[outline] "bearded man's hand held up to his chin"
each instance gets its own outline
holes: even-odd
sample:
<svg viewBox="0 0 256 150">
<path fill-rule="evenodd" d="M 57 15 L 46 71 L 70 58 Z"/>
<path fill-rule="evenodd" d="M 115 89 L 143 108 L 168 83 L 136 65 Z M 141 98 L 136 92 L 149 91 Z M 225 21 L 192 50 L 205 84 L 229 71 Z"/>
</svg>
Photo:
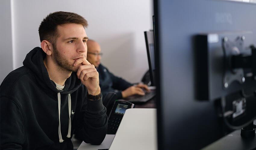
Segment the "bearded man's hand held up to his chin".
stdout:
<svg viewBox="0 0 256 150">
<path fill-rule="evenodd" d="M 86 86 L 89 95 L 99 95 L 101 90 L 99 86 L 99 73 L 96 70 L 95 66 L 86 58 L 81 57 L 74 62 L 74 66 L 82 64 L 78 67 L 76 75 L 78 79 L 81 80 L 83 85 Z"/>
</svg>

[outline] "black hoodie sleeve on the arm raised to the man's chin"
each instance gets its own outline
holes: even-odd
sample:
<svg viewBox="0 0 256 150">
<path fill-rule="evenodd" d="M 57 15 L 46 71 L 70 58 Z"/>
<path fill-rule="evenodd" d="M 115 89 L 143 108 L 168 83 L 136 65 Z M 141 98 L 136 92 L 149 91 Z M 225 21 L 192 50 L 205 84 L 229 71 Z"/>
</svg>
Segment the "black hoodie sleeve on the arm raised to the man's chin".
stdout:
<svg viewBox="0 0 256 150">
<path fill-rule="evenodd" d="M 80 126 L 76 134 L 85 143 L 99 145 L 102 143 L 107 133 L 107 109 L 102 104 L 102 95 L 101 98 L 96 101 L 89 100 L 86 96 L 86 101 L 87 105 L 83 105 L 83 116 L 81 116 L 83 117 L 83 126 Z"/>
</svg>

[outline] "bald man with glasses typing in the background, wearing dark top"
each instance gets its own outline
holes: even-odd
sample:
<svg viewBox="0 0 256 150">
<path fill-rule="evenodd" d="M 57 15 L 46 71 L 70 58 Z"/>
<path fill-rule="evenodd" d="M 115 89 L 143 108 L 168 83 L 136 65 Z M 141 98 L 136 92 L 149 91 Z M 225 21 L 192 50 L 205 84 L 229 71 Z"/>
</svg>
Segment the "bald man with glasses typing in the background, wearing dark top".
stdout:
<svg viewBox="0 0 256 150">
<path fill-rule="evenodd" d="M 145 88 L 146 91 L 150 91 L 145 84 L 133 86 L 133 84 L 109 72 L 108 69 L 100 63 L 102 56 L 101 47 L 96 41 L 88 40 L 87 48 L 87 60 L 96 67 L 99 73 L 99 85 L 103 98 L 110 91 L 116 93 L 117 99 L 127 98 L 132 95 L 145 95 L 142 88 Z"/>
</svg>

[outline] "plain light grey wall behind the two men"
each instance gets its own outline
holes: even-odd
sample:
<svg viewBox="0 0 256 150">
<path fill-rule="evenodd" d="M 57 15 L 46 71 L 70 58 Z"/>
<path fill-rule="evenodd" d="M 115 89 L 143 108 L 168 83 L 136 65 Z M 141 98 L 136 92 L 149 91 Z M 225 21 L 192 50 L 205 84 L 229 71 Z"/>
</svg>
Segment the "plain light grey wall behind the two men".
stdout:
<svg viewBox="0 0 256 150">
<path fill-rule="evenodd" d="M 152 29 L 152 0 L 1 0 L 0 82 L 40 46 L 38 27 L 51 12 L 70 11 L 87 19 L 86 33 L 98 41 L 101 62 L 130 82 L 148 70 L 144 31 Z"/>
</svg>

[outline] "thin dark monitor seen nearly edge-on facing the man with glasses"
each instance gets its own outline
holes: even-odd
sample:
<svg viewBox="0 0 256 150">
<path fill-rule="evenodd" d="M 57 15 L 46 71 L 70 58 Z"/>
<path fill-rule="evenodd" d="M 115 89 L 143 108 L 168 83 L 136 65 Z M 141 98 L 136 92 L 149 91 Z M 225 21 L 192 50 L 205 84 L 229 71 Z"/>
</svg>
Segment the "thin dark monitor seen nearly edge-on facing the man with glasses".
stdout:
<svg viewBox="0 0 256 150">
<path fill-rule="evenodd" d="M 145 41 L 148 56 L 148 66 L 151 86 L 155 86 L 155 45 L 153 31 L 145 31 Z"/>
</svg>

